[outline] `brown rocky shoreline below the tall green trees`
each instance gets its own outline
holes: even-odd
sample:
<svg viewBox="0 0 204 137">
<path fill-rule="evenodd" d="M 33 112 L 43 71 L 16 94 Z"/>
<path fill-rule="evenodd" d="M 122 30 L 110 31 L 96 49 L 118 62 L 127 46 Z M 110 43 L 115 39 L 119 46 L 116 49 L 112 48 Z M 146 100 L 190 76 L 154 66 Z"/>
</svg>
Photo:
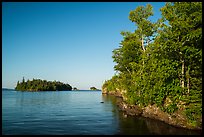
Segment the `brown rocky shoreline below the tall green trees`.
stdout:
<svg viewBox="0 0 204 137">
<path fill-rule="evenodd" d="M 148 117 L 151 119 L 163 121 L 175 127 L 182 127 L 191 130 L 202 130 L 202 125 L 200 127 L 193 127 L 192 125 L 190 125 L 187 121 L 187 117 L 183 114 L 183 111 L 176 111 L 175 113 L 170 115 L 166 112 L 163 112 L 155 104 L 148 105 L 144 108 L 141 108 L 137 105 L 129 105 L 125 103 L 120 92 L 105 92 L 102 90 L 102 94 L 109 94 L 121 98 L 119 101 L 117 101 L 117 106 L 127 115 Z"/>
</svg>

